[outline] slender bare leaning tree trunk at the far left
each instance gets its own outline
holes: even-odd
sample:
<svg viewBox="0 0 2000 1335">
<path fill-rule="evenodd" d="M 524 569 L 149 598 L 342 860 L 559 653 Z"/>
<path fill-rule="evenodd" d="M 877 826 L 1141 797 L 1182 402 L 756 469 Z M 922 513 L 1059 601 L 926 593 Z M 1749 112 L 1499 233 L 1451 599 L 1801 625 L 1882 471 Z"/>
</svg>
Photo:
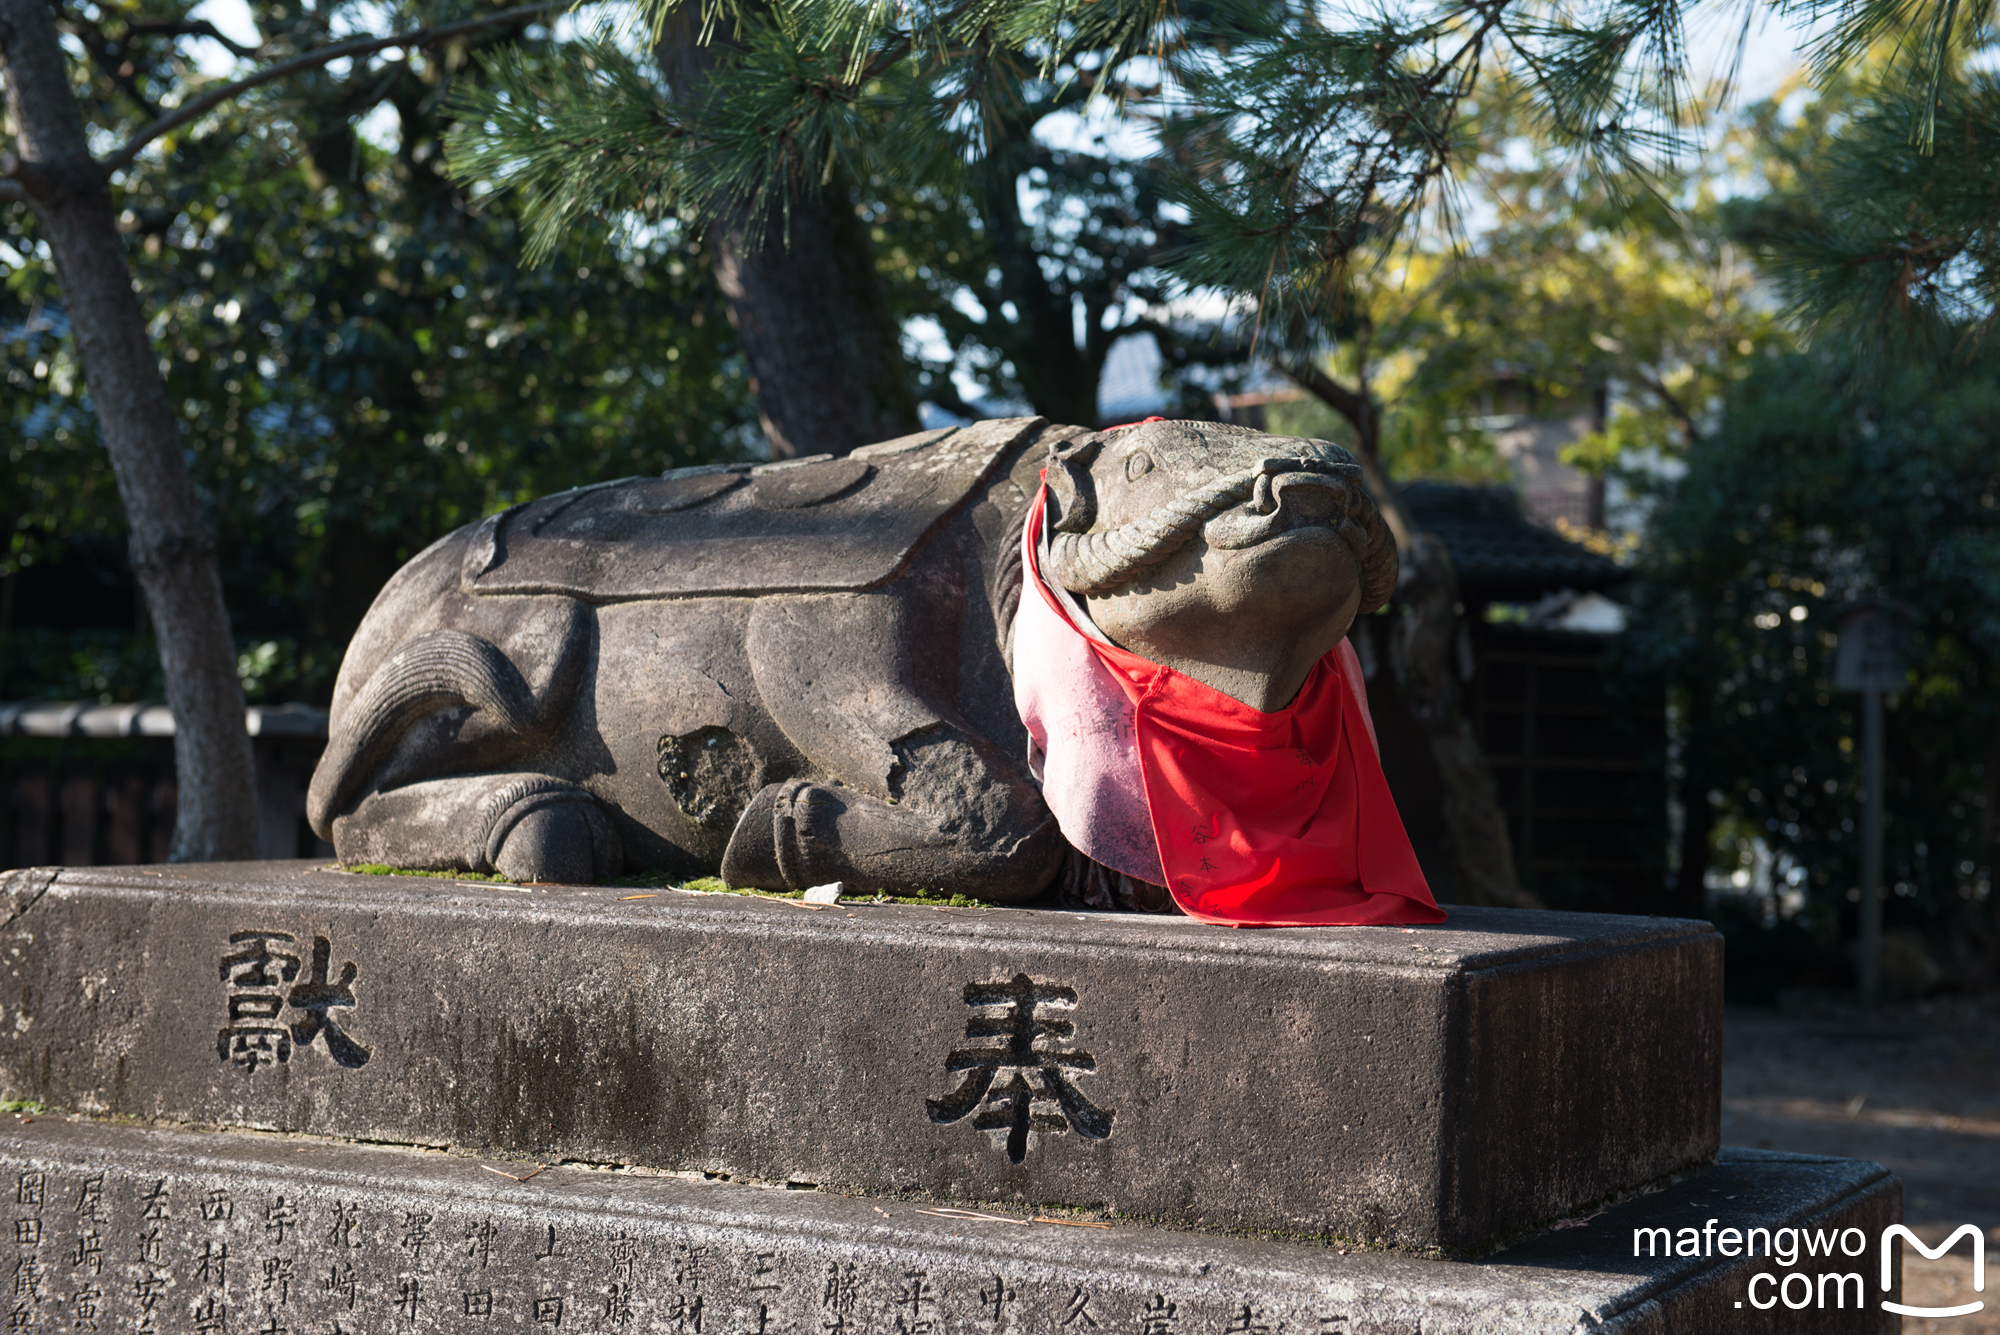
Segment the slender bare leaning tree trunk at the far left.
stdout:
<svg viewBox="0 0 2000 1335">
<path fill-rule="evenodd" d="M 44 0 L 0 0 L 0 66 L 20 134 L 16 180 L 56 256 L 76 354 L 132 526 L 132 570 L 160 642 L 180 783 L 168 857 L 254 857 L 254 759 L 214 538 L 188 482 L 110 184 L 90 158 Z"/>
</svg>

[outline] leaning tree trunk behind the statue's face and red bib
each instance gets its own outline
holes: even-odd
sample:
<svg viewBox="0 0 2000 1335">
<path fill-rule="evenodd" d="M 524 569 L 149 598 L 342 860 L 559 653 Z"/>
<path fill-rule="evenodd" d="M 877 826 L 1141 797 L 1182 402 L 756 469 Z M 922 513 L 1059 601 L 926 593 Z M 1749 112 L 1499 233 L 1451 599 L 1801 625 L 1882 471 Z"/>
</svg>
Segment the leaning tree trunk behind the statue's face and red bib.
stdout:
<svg viewBox="0 0 2000 1335">
<path fill-rule="evenodd" d="M 1466 717 L 1464 691 L 1452 671 L 1452 640 L 1458 636 L 1458 572 L 1444 544 L 1416 528 L 1380 456 L 1380 410 L 1368 390 L 1350 390 L 1312 364 L 1284 368 L 1298 388 L 1338 412 L 1354 428 L 1362 484 L 1374 498 L 1390 534 L 1402 572 L 1396 594 L 1402 614 L 1390 652 L 1390 669 L 1410 701 L 1410 713 L 1430 739 L 1430 757 L 1444 787 L 1444 827 L 1452 833 L 1452 897 L 1460 903 L 1542 907 L 1520 887 L 1514 841 L 1500 809 L 1486 751 Z"/>
</svg>

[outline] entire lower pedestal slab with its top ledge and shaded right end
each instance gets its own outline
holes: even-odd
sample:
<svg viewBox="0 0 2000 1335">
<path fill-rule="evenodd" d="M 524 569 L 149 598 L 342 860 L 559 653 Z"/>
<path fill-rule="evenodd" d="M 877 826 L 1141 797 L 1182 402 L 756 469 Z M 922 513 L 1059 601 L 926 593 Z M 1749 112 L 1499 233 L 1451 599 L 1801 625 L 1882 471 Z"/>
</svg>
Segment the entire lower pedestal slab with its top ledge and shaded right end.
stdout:
<svg viewBox="0 0 2000 1335">
<path fill-rule="evenodd" d="M 482 1165 L 410 1149 L 38 1117 L 0 1129 L 10 1329 L 672 1335 L 1414 1335 L 1896 1329 L 1900 1187 L 1848 1159 L 1724 1155 L 1484 1263 L 906 1203 Z M 502 1177 L 502 1169 L 506 1177 Z M 1636 1229 L 1858 1229 L 1862 1255 L 1634 1257 Z M 1850 1239 L 1852 1241 L 1852 1239 Z M 1782 1249 L 1782 1243 L 1780 1243 Z M 1822 1271 L 1850 1275 L 1818 1307 Z M 1792 1311 L 1772 1281 L 1794 1275 Z M 1806 1279 L 1800 1281 L 1798 1275 Z M 1770 1303 L 1768 1309 L 1758 1309 Z"/>
</svg>

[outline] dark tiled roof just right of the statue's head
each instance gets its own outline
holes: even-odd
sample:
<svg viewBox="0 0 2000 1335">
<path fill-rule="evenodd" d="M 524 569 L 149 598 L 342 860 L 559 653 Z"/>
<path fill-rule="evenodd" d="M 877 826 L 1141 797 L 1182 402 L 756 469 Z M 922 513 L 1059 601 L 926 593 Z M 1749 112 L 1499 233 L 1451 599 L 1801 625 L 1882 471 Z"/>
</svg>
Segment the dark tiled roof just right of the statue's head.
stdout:
<svg viewBox="0 0 2000 1335">
<path fill-rule="evenodd" d="M 1452 554 L 1466 602 L 1532 602 L 1560 590 L 1604 592 L 1630 574 L 1618 562 L 1530 524 L 1506 488 L 1412 482 L 1402 490 L 1402 502 L 1410 518 Z"/>
</svg>

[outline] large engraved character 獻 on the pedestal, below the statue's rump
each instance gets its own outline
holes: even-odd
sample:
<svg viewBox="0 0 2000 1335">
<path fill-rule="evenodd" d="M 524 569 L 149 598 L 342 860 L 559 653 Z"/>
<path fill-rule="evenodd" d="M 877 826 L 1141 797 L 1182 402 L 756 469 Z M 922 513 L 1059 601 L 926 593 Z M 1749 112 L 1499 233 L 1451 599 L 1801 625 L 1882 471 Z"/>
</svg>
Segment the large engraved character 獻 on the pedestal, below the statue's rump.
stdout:
<svg viewBox="0 0 2000 1335">
<path fill-rule="evenodd" d="M 216 1033 L 216 1055 L 256 1071 L 292 1059 L 296 1047 L 326 1045 L 334 1065 L 368 1065 L 368 1049 L 336 1021 L 334 1009 L 352 1009 L 354 961 L 328 981 L 334 947 L 312 937 L 310 957 L 298 953 L 290 931 L 232 931 L 220 979 L 228 985 L 228 1023 Z M 286 1017 L 286 1011 L 292 1015 Z"/>
</svg>

